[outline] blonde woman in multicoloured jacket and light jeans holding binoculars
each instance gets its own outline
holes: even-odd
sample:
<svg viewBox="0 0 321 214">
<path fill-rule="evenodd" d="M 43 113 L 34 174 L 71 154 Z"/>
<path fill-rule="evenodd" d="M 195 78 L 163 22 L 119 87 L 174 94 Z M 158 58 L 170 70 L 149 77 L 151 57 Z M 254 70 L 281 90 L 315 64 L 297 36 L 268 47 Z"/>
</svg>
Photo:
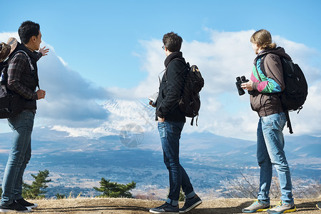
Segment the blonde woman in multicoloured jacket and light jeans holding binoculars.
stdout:
<svg viewBox="0 0 321 214">
<path fill-rule="evenodd" d="M 260 166 L 260 190 L 258 200 L 243 213 L 267 211 L 267 213 L 290 213 L 296 210 L 292 196 L 290 168 L 285 158 L 283 128 L 287 122 L 280 101 L 284 90 L 283 69 L 280 57 L 291 60 L 285 49 L 272 42 L 269 31 L 256 31 L 250 39 L 257 54 L 250 81 L 242 83 L 242 88 L 250 91 L 250 104 L 258 112 L 257 158 Z M 264 57 L 264 61 L 263 61 Z M 263 66 L 261 66 L 263 63 Z M 264 67 L 265 69 L 263 69 Z M 281 201 L 270 208 L 270 185 L 272 166 L 280 181 Z"/>
</svg>

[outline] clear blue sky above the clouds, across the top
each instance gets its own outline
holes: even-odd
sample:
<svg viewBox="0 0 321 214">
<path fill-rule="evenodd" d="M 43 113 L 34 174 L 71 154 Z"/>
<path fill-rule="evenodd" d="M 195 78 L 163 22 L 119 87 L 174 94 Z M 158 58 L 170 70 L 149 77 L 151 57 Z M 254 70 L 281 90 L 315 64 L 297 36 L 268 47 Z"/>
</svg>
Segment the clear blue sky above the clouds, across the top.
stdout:
<svg viewBox="0 0 321 214">
<path fill-rule="evenodd" d="M 0 31 L 30 19 L 68 66 L 101 86 L 133 87 L 144 76 L 139 41 L 175 31 L 186 41 L 208 41 L 217 31 L 268 29 L 271 34 L 321 49 L 320 1 L 16 1 L 2 11 Z M 268 2 L 268 3 L 267 3 Z M 2 8 L 10 8 L 5 1 Z M 10 17 L 10 19 L 9 19 Z M 231 50 L 232 51 L 232 50 Z M 123 71 L 123 75 L 113 75 Z M 117 73 L 119 74 L 119 73 Z"/>
</svg>

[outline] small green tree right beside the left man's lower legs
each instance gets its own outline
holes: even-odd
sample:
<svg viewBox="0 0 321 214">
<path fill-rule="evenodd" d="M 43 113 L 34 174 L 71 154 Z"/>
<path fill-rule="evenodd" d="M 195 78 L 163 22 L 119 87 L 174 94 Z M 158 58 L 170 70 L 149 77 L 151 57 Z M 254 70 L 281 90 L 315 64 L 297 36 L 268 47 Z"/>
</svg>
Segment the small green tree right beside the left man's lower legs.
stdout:
<svg viewBox="0 0 321 214">
<path fill-rule="evenodd" d="M 46 183 L 49 183 L 51 179 L 47 179 L 49 176 L 49 170 L 40 171 L 37 175 L 31 174 L 34 178 L 34 182 L 31 185 L 22 183 L 22 197 L 29 199 L 41 199 L 44 198 L 45 195 L 41 195 L 46 193 L 44 189 L 48 188 Z"/>
</svg>

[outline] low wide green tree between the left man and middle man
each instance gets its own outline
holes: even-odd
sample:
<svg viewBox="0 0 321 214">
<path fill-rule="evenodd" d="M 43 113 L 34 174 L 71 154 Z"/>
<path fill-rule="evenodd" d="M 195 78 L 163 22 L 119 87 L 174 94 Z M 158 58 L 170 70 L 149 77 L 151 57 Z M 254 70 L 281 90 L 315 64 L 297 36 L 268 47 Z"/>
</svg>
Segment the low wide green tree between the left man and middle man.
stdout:
<svg viewBox="0 0 321 214">
<path fill-rule="evenodd" d="M 129 191 L 136 188 L 136 183 L 133 181 L 128 184 L 121 184 L 111 182 L 111 180 L 106 180 L 105 178 L 101 178 L 101 181 L 99 183 L 101 184 L 100 188 L 93 187 L 93 189 L 103 193 L 98 197 L 133 198 L 133 195 Z"/>
</svg>

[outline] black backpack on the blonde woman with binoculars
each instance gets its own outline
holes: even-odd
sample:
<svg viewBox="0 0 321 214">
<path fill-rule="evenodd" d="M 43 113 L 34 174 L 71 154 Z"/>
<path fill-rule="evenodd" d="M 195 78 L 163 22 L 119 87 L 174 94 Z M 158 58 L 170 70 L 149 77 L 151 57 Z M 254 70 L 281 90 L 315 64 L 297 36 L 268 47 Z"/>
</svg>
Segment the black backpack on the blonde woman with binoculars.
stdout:
<svg viewBox="0 0 321 214">
<path fill-rule="evenodd" d="M 261 58 L 260 66 L 266 76 L 263 63 L 265 56 Z M 300 66 L 281 56 L 280 59 L 285 83 L 285 89 L 280 93 L 280 100 L 287 117 L 287 127 L 290 129 L 290 133 L 293 133 L 289 111 L 297 111 L 299 113 L 303 108 L 303 104 L 307 99 L 307 81 Z"/>
</svg>

